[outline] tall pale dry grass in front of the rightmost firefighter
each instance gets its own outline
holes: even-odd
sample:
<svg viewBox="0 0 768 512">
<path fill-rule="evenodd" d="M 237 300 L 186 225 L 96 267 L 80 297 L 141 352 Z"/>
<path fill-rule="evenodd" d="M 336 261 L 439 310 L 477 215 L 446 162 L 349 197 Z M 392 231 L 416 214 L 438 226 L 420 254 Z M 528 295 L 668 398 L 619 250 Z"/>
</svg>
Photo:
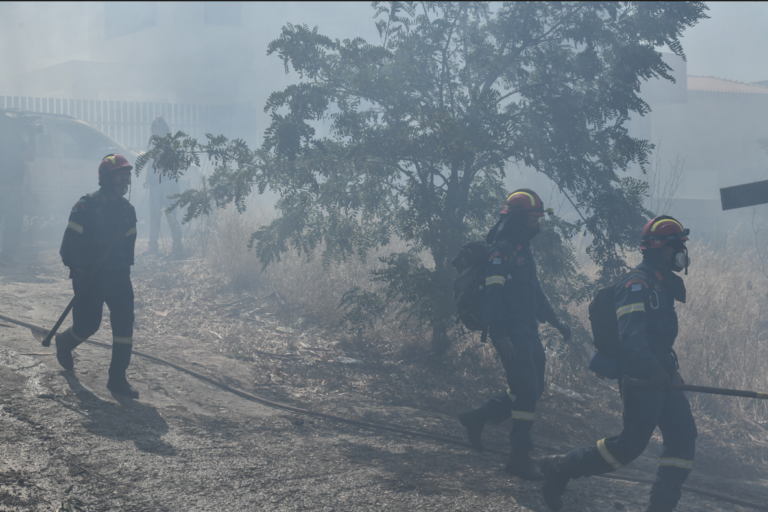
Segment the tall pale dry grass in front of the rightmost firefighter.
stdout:
<svg viewBox="0 0 768 512">
<path fill-rule="evenodd" d="M 690 383 L 748 390 L 768 389 L 768 297 L 766 279 L 743 248 L 694 245 L 686 278 L 688 302 L 677 307 L 680 334 L 675 348 Z M 768 420 L 762 400 L 691 393 L 694 409 L 714 419 L 741 414 Z"/>
</svg>

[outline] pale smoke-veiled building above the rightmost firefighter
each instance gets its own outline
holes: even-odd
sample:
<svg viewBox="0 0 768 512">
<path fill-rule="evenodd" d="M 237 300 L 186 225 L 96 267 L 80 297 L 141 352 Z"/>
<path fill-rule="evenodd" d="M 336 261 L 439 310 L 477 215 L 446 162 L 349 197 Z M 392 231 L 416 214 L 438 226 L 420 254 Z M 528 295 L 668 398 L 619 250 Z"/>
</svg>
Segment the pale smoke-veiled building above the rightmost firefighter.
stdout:
<svg viewBox="0 0 768 512">
<path fill-rule="evenodd" d="M 661 203 L 671 204 L 668 213 L 709 236 L 751 216 L 750 208 L 723 212 L 720 188 L 768 179 L 768 152 L 761 146 L 768 138 L 768 87 L 688 76 L 686 93 L 681 101 L 651 103 L 653 111 L 641 129 L 658 147 L 652 165 L 658 188 L 669 189 L 679 180 Z M 682 171 L 679 178 L 670 175 L 675 163 Z"/>
</svg>

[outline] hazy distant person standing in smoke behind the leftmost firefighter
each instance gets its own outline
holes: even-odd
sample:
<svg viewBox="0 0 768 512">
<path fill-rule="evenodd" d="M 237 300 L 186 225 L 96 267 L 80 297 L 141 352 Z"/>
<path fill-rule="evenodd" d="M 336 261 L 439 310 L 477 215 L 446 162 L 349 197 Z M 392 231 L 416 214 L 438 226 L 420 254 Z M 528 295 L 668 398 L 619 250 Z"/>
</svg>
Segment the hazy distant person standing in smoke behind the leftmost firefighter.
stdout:
<svg viewBox="0 0 768 512">
<path fill-rule="evenodd" d="M 158 137 L 165 137 L 171 133 L 168 123 L 165 122 L 165 119 L 163 119 L 162 116 L 157 116 L 154 121 L 152 121 L 151 130 L 152 135 L 157 135 Z M 146 166 L 146 169 L 147 173 L 144 176 L 144 188 L 149 188 L 149 248 L 144 254 L 146 256 L 157 256 L 160 254 L 160 245 L 158 244 L 158 238 L 160 237 L 160 217 L 165 209 L 174 203 L 174 201 L 168 199 L 168 197 L 178 194 L 180 189 L 179 183 L 176 180 L 162 177 L 159 172 L 154 172 L 151 162 Z M 181 226 L 179 225 L 179 221 L 176 220 L 176 216 L 173 212 L 166 213 L 165 219 L 168 221 L 168 226 L 171 228 L 171 239 L 173 240 L 171 257 L 182 258 L 184 250 L 181 244 Z"/>
</svg>

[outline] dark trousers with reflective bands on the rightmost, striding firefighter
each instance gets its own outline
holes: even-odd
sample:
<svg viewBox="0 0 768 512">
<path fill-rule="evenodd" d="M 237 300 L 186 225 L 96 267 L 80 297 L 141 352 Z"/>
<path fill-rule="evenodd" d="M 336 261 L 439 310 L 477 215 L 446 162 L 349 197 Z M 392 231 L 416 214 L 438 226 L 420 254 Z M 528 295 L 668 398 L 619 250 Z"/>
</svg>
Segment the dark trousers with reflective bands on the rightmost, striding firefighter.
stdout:
<svg viewBox="0 0 768 512">
<path fill-rule="evenodd" d="M 696 423 L 688 399 L 680 390 L 660 393 L 639 386 L 624 386 L 624 430 L 618 436 L 582 446 L 567 455 L 571 478 L 615 471 L 643 453 L 656 427 L 664 439 L 651 502 L 675 506 L 688 478 L 696 451 Z"/>
</svg>

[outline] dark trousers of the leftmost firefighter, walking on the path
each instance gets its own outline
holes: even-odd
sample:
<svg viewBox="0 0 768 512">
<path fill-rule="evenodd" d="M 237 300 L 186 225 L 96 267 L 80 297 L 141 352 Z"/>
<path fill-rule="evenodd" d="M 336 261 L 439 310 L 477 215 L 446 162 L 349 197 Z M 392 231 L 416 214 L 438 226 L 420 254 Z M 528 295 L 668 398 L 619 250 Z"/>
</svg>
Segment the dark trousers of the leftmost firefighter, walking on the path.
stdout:
<svg viewBox="0 0 768 512">
<path fill-rule="evenodd" d="M 110 376 L 124 376 L 131 362 L 133 349 L 133 285 L 130 269 L 98 272 L 83 295 L 72 307 L 72 327 L 68 333 L 72 348 L 96 334 L 106 303 L 112 324 L 112 364 Z M 80 291 L 73 282 L 75 294 Z"/>
</svg>

